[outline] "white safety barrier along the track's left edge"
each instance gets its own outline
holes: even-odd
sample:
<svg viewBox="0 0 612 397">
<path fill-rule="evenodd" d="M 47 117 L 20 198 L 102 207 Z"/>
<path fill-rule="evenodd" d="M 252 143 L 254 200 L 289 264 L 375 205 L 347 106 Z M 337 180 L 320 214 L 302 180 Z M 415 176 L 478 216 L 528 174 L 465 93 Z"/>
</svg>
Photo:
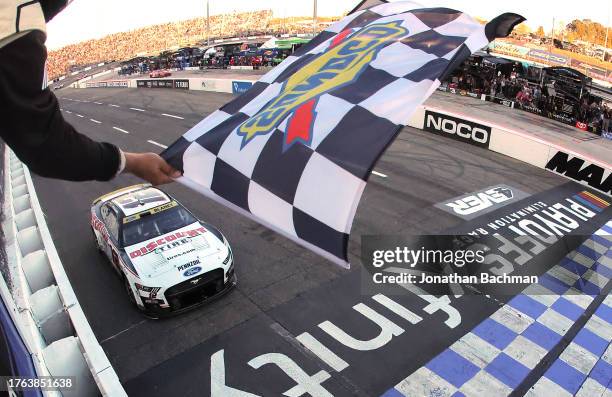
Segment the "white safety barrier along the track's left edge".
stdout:
<svg viewBox="0 0 612 397">
<path fill-rule="evenodd" d="M 48 396 L 127 396 L 70 285 L 47 228 L 28 168 L 7 147 L 5 249 L 12 289 L 0 294 L 39 376 L 76 377 L 71 390 Z"/>
</svg>

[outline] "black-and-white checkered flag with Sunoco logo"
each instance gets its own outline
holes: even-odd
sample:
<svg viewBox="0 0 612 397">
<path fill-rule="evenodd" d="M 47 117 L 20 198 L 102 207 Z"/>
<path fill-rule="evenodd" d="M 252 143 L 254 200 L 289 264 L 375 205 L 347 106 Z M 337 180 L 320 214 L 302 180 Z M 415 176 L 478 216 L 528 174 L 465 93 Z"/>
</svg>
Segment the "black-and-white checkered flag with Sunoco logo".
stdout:
<svg viewBox="0 0 612 397">
<path fill-rule="evenodd" d="M 378 158 L 443 77 L 522 20 L 481 25 L 406 1 L 357 11 L 162 156 L 185 185 L 348 267 L 353 217 Z"/>
</svg>

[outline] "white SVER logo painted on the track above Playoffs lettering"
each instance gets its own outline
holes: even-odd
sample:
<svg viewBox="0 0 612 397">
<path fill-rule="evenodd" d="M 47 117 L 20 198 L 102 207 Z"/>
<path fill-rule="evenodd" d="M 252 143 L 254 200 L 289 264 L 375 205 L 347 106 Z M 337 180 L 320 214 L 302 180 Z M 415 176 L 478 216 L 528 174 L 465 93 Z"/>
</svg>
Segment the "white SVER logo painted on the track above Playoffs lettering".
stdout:
<svg viewBox="0 0 612 397">
<path fill-rule="evenodd" d="M 497 185 L 436 204 L 436 207 L 464 219 L 473 219 L 528 196 L 510 186 Z"/>
</svg>

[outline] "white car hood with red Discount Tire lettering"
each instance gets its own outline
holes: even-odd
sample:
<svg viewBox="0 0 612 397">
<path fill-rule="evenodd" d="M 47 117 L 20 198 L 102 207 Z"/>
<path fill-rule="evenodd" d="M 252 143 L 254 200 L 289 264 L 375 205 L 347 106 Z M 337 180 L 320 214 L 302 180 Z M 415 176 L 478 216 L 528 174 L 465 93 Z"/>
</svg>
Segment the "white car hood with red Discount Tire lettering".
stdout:
<svg viewBox="0 0 612 397">
<path fill-rule="evenodd" d="M 143 281 L 169 277 L 169 282 L 176 282 L 221 266 L 229 249 L 202 224 L 195 222 L 126 247 L 125 252 Z"/>
</svg>

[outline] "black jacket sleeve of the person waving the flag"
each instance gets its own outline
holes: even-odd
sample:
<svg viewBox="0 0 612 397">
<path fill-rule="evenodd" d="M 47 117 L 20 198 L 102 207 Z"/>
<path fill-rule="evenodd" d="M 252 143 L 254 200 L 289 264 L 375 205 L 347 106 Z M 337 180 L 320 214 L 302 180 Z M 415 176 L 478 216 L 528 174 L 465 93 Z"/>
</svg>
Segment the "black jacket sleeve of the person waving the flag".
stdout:
<svg viewBox="0 0 612 397">
<path fill-rule="evenodd" d="M 119 149 L 79 134 L 43 89 L 44 38 L 33 31 L 0 48 L 0 136 L 38 175 L 109 180 L 119 168 Z"/>
</svg>

